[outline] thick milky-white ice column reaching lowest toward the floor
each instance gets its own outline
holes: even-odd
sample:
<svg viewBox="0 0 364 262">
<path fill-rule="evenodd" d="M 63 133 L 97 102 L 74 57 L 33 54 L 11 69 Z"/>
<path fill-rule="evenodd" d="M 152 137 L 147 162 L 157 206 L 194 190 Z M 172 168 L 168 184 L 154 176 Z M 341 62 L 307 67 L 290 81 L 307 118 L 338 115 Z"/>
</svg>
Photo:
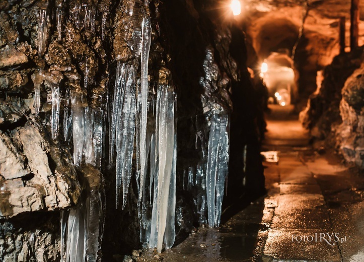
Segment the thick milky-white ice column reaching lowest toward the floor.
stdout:
<svg viewBox="0 0 364 262">
<path fill-rule="evenodd" d="M 162 73 L 163 74 L 163 73 Z M 161 75 L 161 72 L 160 72 Z M 170 85 L 159 85 L 156 113 L 156 145 L 158 174 L 154 178 L 154 203 L 150 247 L 162 251 L 172 247 L 175 240 L 176 203 L 176 97 Z"/>
</svg>

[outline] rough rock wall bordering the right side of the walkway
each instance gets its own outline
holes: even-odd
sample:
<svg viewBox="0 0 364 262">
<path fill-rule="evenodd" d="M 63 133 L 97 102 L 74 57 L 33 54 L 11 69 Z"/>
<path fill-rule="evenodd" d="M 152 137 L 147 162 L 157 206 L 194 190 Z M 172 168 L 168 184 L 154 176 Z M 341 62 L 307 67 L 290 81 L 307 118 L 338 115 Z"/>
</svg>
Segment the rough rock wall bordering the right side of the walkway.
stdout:
<svg viewBox="0 0 364 262">
<path fill-rule="evenodd" d="M 364 170 L 363 47 L 337 55 L 323 70 L 323 81 L 309 98 L 300 120 L 314 141 L 335 148 Z"/>
</svg>

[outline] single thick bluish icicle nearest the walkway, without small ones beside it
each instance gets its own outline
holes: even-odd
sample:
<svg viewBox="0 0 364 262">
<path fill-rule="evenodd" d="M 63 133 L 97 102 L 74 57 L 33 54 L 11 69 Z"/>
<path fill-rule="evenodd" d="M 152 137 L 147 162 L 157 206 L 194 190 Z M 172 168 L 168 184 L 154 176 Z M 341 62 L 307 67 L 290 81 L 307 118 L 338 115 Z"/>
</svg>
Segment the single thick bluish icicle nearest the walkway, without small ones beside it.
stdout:
<svg viewBox="0 0 364 262">
<path fill-rule="evenodd" d="M 229 163 L 229 117 L 225 113 L 211 113 L 208 140 L 206 192 L 208 224 L 220 225 L 225 178 Z"/>
</svg>

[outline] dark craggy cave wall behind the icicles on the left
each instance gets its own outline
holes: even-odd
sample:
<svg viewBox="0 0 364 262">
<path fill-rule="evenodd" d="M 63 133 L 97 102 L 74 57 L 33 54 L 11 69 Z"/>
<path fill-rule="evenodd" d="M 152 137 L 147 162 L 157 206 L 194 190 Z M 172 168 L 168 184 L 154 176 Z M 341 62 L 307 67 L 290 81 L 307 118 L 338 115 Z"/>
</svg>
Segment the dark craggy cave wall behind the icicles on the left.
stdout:
<svg viewBox="0 0 364 262">
<path fill-rule="evenodd" d="M 0 3 L 0 258 L 4 261 L 60 259 L 60 211 L 78 204 L 81 191 L 87 188 L 85 177 L 91 173 L 104 179 L 106 191 L 103 259 L 111 261 L 115 255 L 139 247 L 135 167 L 127 205 L 116 210 L 115 167 L 107 153 L 107 104 L 113 96 L 116 63 L 136 58 L 127 42 L 132 30 L 125 26 L 125 8 L 130 3 L 92 3 L 96 7 L 93 28 L 80 25 L 78 16 L 85 14 L 76 12 L 78 1 L 66 1 L 63 6 L 50 2 L 48 8 L 54 13 L 60 8 L 63 16 L 60 28 L 57 16 L 49 16 L 44 55 L 38 53 L 39 15 L 44 2 Z M 208 146 L 206 139 L 196 145 L 196 136 L 207 132 L 206 113 L 211 105 L 219 105 L 231 119 L 224 206 L 244 194 L 249 201 L 264 192 L 258 139 L 261 130 L 257 125 L 257 119 L 262 119 L 257 103 L 260 96 L 246 68 L 245 36 L 232 18 L 220 19 L 216 5 L 215 1 L 192 0 L 150 3 L 150 81 L 160 81 L 160 69 L 166 68 L 170 71 L 167 80 L 177 93 L 176 230 L 181 238 L 201 222 L 193 194 L 184 189 L 184 176 L 186 168 L 197 164 Z M 102 175 L 90 165 L 73 164 L 74 145 L 69 136 L 59 132 L 56 140 L 51 139 L 49 86 L 41 88 L 41 108 L 35 116 L 36 79 L 32 76 L 40 69 L 49 76 L 54 71 L 62 75 L 58 81 L 62 101 L 59 130 L 66 124 L 69 87 L 81 90 L 88 106 L 101 117 L 106 126 L 102 158 L 97 164 Z M 242 161 L 245 147 L 246 163 Z"/>
</svg>

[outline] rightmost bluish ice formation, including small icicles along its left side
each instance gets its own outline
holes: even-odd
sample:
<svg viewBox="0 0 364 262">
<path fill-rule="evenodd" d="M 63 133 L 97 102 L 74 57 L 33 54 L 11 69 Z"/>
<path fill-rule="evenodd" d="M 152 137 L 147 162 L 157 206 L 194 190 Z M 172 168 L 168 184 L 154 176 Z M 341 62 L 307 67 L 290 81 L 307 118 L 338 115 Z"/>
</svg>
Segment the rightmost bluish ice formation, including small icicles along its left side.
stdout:
<svg viewBox="0 0 364 262">
<path fill-rule="evenodd" d="M 194 195 L 199 223 L 218 227 L 229 166 L 230 116 L 219 106 L 219 109 L 215 105 L 212 108 L 206 113 L 206 131 L 197 130 L 196 149 L 199 139 L 201 160 L 196 167 L 185 169 L 185 189 Z M 208 141 L 205 141 L 205 137 Z"/>
</svg>

